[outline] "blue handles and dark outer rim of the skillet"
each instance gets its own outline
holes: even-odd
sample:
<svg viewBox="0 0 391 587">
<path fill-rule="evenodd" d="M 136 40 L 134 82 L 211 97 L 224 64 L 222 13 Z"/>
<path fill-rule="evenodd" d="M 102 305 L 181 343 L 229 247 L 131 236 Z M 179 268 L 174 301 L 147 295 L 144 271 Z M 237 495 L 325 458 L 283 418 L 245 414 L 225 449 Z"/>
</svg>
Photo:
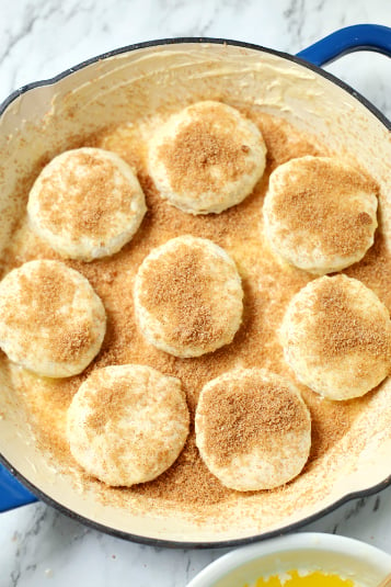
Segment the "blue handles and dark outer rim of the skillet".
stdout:
<svg viewBox="0 0 391 587">
<path fill-rule="evenodd" d="M 284 59 L 296 61 L 300 64 L 301 66 L 304 66 L 308 69 L 311 69 L 315 71 L 317 74 L 320 74 L 327 80 L 332 81 L 336 86 L 347 91 L 349 94 L 356 98 L 359 102 L 361 102 L 377 118 L 379 118 L 379 121 L 389 131 L 391 131 L 391 122 L 381 112 L 379 112 L 368 100 L 366 100 L 364 97 L 358 94 L 355 90 L 353 90 L 349 86 L 347 86 L 340 79 L 320 69 L 321 66 L 327 63 L 331 63 L 347 53 L 352 53 L 355 50 L 375 50 L 377 53 L 382 53 L 391 57 L 391 29 L 381 26 L 381 25 L 375 25 L 375 24 L 358 24 L 358 25 L 347 26 L 345 29 L 336 31 L 332 33 L 331 35 L 322 38 L 321 41 L 314 43 L 310 47 L 301 50 L 296 56 L 281 53 L 281 52 L 277 52 L 274 49 L 265 48 L 258 45 L 252 45 L 249 43 L 227 41 L 227 39 L 221 39 L 221 38 L 205 38 L 205 37 L 204 38 L 185 37 L 185 38 L 174 38 L 174 39 L 166 38 L 166 39 L 161 39 L 161 41 L 152 41 L 152 42 L 147 42 L 147 43 L 139 43 L 136 45 L 129 45 L 127 47 L 122 47 L 119 49 L 115 49 L 115 50 L 105 53 L 103 55 L 100 55 L 97 57 L 88 59 L 87 61 L 83 61 L 76 67 L 67 69 L 62 74 L 59 74 L 58 76 L 49 80 L 43 80 L 43 81 L 34 82 L 34 83 L 28 83 L 20 88 L 19 90 L 11 93 L 11 95 L 7 98 L 4 102 L 0 105 L 0 116 L 3 114 L 5 109 L 11 104 L 11 102 L 13 102 L 21 94 L 26 93 L 33 88 L 37 88 L 39 86 L 54 84 L 58 80 L 69 76 L 73 71 L 82 69 L 97 60 L 106 59 L 106 58 L 113 57 L 122 53 L 133 52 L 135 49 L 143 48 L 143 47 L 153 47 L 153 46 L 170 45 L 170 44 L 177 44 L 177 43 L 193 43 L 193 44 L 194 43 L 212 43 L 212 44 L 235 45 L 239 47 L 246 47 L 246 48 L 266 52 L 266 53 L 279 56 Z M 317 512 L 313 516 L 307 517 L 300 520 L 299 522 L 286 526 L 283 529 L 283 531 L 286 533 L 295 531 L 299 529 L 301 526 L 304 526 L 311 521 L 314 521 L 315 519 L 319 519 L 325 513 L 329 513 L 330 511 L 336 509 L 342 504 L 350 499 L 365 497 L 365 496 L 375 494 L 386 488 L 389 485 L 391 485 L 391 474 L 380 484 L 373 487 L 370 487 L 368 489 L 365 489 L 365 490 L 350 493 L 344 496 L 342 499 L 334 503 L 332 506 L 323 509 L 322 511 Z M 4 459 L 0 454 L 0 512 L 7 511 L 9 509 L 16 508 L 26 504 L 31 504 L 33 501 L 36 501 L 37 499 L 42 499 L 46 504 L 57 508 L 62 513 L 66 513 L 67 516 L 73 519 L 77 519 L 78 521 L 87 526 L 90 526 L 96 530 L 103 531 L 107 534 L 116 535 L 122 539 L 131 540 L 135 542 L 141 542 L 141 543 L 151 544 L 151 545 L 171 546 L 171 548 L 198 548 L 198 549 L 199 548 L 233 546 L 238 544 L 255 542 L 261 539 L 265 540 L 265 539 L 268 539 L 276 534 L 281 533 L 281 530 L 275 530 L 275 531 L 271 531 L 267 533 L 263 533 L 262 537 L 255 535 L 255 537 L 250 537 L 250 538 L 239 539 L 239 540 L 230 540 L 230 541 L 226 540 L 221 542 L 199 544 L 199 543 L 192 543 L 192 542 L 174 542 L 174 541 L 166 541 L 166 540 L 159 540 L 159 539 L 149 539 L 149 538 L 138 537 L 128 532 L 122 532 L 113 528 L 103 526 L 101 523 L 96 523 L 88 518 L 84 518 L 73 512 L 72 510 L 64 507 L 62 505 L 58 504 L 48 495 L 44 494 L 39 489 L 39 487 L 33 486 L 26 478 L 24 478 L 12 466 L 12 463 L 8 462 L 7 459 Z"/>
</svg>

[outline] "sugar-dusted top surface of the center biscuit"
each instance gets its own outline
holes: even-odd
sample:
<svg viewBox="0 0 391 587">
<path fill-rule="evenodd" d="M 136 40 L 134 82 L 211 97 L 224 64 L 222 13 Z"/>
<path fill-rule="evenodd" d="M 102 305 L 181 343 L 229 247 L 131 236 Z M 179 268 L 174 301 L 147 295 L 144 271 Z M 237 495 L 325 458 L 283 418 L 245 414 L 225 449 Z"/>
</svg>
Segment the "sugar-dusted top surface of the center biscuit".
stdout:
<svg viewBox="0 0 391 587">
<path fill-rule="evenodd" d="M 169 343 L 208 350 L 231 330 L 242 307 L 240 301 L 232 307 L 229 303 L 241 291 L 240 278 L 234 262 L 219 250 L 216 246 L 210 250 L 206 239 L 185 235 L 170 241 L 164 253 L 148 259 L 140 302 L 164 325 Z"/>
</svg>

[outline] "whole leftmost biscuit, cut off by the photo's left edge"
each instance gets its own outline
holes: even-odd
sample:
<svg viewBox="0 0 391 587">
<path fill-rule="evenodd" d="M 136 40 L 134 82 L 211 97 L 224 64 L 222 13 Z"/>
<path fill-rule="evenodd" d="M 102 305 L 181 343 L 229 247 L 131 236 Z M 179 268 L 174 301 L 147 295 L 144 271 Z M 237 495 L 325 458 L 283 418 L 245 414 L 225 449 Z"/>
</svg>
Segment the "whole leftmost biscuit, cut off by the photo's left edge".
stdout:
<svg viewBox="0 0 391 587">
<path fill-rule="evenodd" d="M 60 261 L 30 261 L 0 283 L 0 347 L 38 375 L 81 373 L 105 331 L 100 297 L 81 273 Z"/>
</svg>

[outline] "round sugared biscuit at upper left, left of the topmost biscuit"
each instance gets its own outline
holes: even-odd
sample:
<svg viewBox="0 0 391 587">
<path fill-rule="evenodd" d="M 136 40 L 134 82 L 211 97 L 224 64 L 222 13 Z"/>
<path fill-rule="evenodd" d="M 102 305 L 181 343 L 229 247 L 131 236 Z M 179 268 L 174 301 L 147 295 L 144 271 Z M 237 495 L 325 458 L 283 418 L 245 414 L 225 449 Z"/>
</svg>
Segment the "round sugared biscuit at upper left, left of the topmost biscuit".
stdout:
<svg viewBox="0 0 391 587">
<path fill-rule="evenodd" d="M 33 230 L 61 257 L 92 261 L 117 252 L 147 211 L 130 167 L 115 153 L 82 147 L 55 157 L 28 196 Z"/>
</svg>

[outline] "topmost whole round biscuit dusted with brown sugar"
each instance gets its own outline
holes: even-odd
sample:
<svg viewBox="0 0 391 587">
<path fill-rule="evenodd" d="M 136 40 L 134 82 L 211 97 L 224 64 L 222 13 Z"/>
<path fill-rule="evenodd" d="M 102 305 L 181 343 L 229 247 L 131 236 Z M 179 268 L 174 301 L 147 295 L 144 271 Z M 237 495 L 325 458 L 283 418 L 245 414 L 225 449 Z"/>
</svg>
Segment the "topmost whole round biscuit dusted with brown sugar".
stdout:
<svg viewBox="0 0 391 587">
<path fill-rule="evenodd" d="M 149 172 L 162 197 L 191 214 L 242 202 L 262 177 L 266 147 L 238 110 L 207 100 L 173 114 L 153 134 Z"/>
</svg>

